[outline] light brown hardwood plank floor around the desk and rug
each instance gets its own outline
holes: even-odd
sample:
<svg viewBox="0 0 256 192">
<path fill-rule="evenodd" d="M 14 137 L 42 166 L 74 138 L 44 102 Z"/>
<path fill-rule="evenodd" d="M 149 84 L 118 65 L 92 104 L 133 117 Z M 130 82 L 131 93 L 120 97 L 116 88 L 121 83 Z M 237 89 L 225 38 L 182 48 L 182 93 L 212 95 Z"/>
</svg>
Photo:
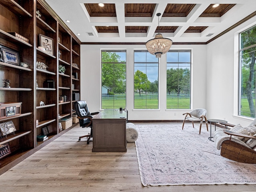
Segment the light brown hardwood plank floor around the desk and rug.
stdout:
<svg viewBox="0 0 256 192">
<path fill-rule="evenodd" d="M 142 186 L 134 143 L 92 152 L 76 126 L 0 176 L 0 192 L 255 192 L 256 185 Z"/>
</svg>

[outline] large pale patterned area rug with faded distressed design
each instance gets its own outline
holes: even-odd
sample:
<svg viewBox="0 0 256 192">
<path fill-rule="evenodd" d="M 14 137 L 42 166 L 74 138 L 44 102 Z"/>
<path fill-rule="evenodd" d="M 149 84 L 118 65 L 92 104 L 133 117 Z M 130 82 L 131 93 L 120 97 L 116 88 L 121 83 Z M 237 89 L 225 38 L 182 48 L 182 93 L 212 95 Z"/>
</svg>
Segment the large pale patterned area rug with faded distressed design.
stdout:
<svg viewBox="0 0 256 192">
<path fill-rule="evenodd" d="M 256 184 L 256 164 L 220 156 L 210 132 L 181 124 L 136 124 L 136 152 L 144 186 Z M 210 128 L 209 128 L 210 131 Z"/>
</svg>

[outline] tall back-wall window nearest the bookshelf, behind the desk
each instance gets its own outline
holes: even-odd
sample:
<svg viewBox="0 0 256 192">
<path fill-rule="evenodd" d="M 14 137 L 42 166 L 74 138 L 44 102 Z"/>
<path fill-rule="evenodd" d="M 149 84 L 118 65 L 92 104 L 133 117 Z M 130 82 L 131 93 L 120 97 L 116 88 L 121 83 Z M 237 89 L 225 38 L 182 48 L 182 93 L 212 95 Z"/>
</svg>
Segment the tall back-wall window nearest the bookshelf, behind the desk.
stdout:
<svg viewBox="0 0 256 192">
<path fill-rule="evenodd" d="M 126 51 L 101 52 L 102 109 L 126 107 Z"/>
</svg>

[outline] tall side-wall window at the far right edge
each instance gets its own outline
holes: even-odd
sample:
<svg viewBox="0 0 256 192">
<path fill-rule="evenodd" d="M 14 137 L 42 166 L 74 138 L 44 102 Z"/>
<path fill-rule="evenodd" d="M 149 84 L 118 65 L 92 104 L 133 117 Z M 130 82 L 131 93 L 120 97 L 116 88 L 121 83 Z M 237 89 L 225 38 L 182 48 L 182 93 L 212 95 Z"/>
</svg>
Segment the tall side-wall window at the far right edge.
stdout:
<svg viewBox="0 0 256 192">
<path fill-rule="evenodd" d="M 255 118 L 256 26 L 240 33 L 239 115 Z"/>
</svg>

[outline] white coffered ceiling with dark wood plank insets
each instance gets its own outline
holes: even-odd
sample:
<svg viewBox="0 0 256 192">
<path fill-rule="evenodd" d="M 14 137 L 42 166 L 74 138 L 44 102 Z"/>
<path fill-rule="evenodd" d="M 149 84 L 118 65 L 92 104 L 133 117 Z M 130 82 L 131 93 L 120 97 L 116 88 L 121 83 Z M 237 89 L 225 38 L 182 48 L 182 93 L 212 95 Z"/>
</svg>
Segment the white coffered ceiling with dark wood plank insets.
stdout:
<svg viewBox="0 0 256 192">
<path fill-rule="evenodd" d="M 244 18 L 256 21 L 256 0 L 45 1 L 84 43 L 143 43 L 158 32 L 174 44 L 207 43 Z"/>
</svg>

